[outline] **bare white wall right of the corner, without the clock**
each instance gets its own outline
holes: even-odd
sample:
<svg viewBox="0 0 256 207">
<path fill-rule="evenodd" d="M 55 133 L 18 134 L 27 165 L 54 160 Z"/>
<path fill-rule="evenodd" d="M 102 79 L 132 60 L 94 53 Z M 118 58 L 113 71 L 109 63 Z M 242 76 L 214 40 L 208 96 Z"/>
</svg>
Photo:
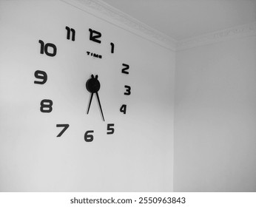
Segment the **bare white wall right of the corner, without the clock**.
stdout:
<svg viewBox="0 0 256 207">
<path fill-rule="evenodd" d="M 178 52 L 175 191 L 256 191 L 256 37 Z"/>
</svg>

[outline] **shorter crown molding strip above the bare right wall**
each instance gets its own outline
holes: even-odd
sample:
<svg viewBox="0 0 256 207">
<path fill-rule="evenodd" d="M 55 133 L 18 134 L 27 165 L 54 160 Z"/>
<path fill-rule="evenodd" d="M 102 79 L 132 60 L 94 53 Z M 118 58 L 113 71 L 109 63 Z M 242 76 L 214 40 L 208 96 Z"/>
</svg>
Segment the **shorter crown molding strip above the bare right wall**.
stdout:
<svg viewBox="0 0 256 207">
<path fill-rule="evenodd" d="M 193 47 L 199 47 L 206 44 L 213 44 L 219 41 L 226 41 L 231 38 L 256 35 L 256 21 L 250 24 L 243 24 L 238 27 L 231 27 L 226 30 L 220 30 L 214 33 L 199 35 L 195 38 L 188 38 L 178 41 L 177 50 L 187 50 Z"/>
</svg>

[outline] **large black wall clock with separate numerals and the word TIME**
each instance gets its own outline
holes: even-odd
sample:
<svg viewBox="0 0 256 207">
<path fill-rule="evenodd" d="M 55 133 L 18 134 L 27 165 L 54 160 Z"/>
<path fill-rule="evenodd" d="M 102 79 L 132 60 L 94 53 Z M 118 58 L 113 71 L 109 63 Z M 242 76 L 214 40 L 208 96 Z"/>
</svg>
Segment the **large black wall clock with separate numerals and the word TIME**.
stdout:
<svg viewBox="0 0 256 207">
<path fill-rule="evenodd" d="M 92 28 L 84 28 L 85 30 L 82 31 L 84 32 L 84 39 L 77 39 L 75 38 L 75 35 L 77 34 L 75 32 L 75 29 L 73 29 L 72 27 L 65 27 L 63 28 L 63 35 L 66 36 L 67 41 L 84 41 L 86 43 L 86 41 L 92 41 L 93 44 L 101 44 L 101 37 L 102 34 L 99 31 L 93 30 Z M 69 45 L 69 47 L 67 47 L 67 44 L 65 46 L 65 43 L 62 43 L 62 50 L 70 50 L 69 47 L 75 47 L 75 45 L 72 46 L 72 44 Z M 86 43 L 87 44 L 87 43 Z M 101 47 L 107 47 L 106 50 L 104 50 L 104 52 L 106 53 L 109 52 L 110 54 L 115 54 L 116 50 L 115 50 L 115 44 L 113 42 L 109 42 L 109 44 L 104 44 Z M 98 52 L 91 52 L 92 50 L 90 50 L 90 47 L 84 48 L 84 51 L 82 54 L 75 54 L 75 55 L 84 55 L 84 60 L 86 61 L 86 63 L 83 66 L 84 72 L 87 72 L 87 75 L 84 76 L 84 92 L 81 93 L 81 96 L 87 96 L 88 97 L 88 104 L 84 103 L 84 109 L 85 106 L 87 106 L 87 110 L 85 111 L 81 111 L 81 115 L 84 115 L 84 117 L 86 117 L 86 115 L 89 114 L 90 112 L 90 106 L 91 104 L 98 104 L 98 109 L 99 109 L 99 114 L 101 115 L 101 120 L 105 122 L 105 118 L 104 118 L 104 114 L 107 115 L 108 111 L 107 108 L 104 108 L 104 102 L 101 101 L 100 99 L 100 93 L 101 93 L 101 88 L 104 87 L 104 84 L 101 84 L 101 80 L 106 78 L 104 77 L 104 73 L 101 75 L 101 72 L 98 71 L 97 72 L 93 72 L 90 69 L 90 65 L 88 64 L 88 62 L 95 61 L 95 67 L 100 67 L 100 64 L 98 64 L 97 66 L 97 61 L 101 61 L 104 58 L 108 58 L 108 56 L 106 54 L 104 54 L 104 52 L 101 52 L 101 48 L 98 48 Z M 44 40 L 39 39 L 38 40 L 38 52 L 41 55 L 44 55 L 46 58 L 44 58 L 44 60 L 41 61 L 47 61 L 47 58 L 55 58 L 56 55 L 58 55 L 59 52 L 61 52 L 59 50 L 58 47 L 58 43 L 53 43 L 53 42 L 46 42 Z M 62 60 L 63 61 L 63 60 Z M 65 61 L 69 61 L 68 58 L 65 59 Z M 64 61 L 64 62 L 65 62 Z M 118 76 L 120 78 L 122 78 L 122 76 L 127 76 L 124 78 L 128 78 L 129 75 L 129 64 L 121 64 L 119 68 L 113 68 L 115 66 L 111 65 L 111 64 L 107 64 L 104 65 L 104 69 L 105 70 L 115 70 L 116 74 L 116 78 L 118 78 Z M 48 69 L 52 69 L 54 70 L 53 67 L 50 67 Z M 75 69 L 70 68 L 70 70 L 73 70 L 73 72 L 76 72 Z M 91 74 L 91 73 L 94 74 Z M 95 74 L 97 73 L 97 74 Z M 47 72 L 45 72 L 44 70 L 36 70 L 34 72 L 34 84 L 38 84 L 40 85 L 44 85 L 47 84 L 47 81 L 49 81 L 51 79 L 51 81 L 53 82 L 52 87 L 55 87 L 54 84 L 58 83 L 58 80 L 61 79 L 61 75 L 64 75 L 62 73 L 60 73 L 58 75 L 58 79 L 56 78 L 56 80 L 54 80 L 52 77 L 50 77 L 50 75 L 47 74 Z M 78 81 L 81 81 L 81 79 L 79 79 Z M 111 82 L 115 81 L 115 80 L 111 80 L 111 81 L 106 81 L 106 84 L 110 84 Z M 82 84 L 80 84 L 79 86 L 82 86 Z M 123 86 L 124 92 L 123 94 L 119 94 L 119 95 L 131 95 L 131 86 L 130 85 L 126 85 L 124 84 Z M 74 90 L 76 90 L 75 88 L 73 88 Z M 80 89 L 81 91 L 81 89 Z M 95 97 L 95 100 L 93 100 L 93 98 Z M 93 100 L 93 101 L 92 101 Z M 115 100 L 111 100 L 111 101 L 115 101 Z M 61 103 L 60 103 L 61 104 Z M 111 103 L 108 105 L 111 106 Z M 54 115 L 54 108 L 57 108 L 58 105 L 54 104 L 54 97 L 52 99 L 49 98 L 43 98 L 40 103 L 38 103 L 38 109 L 40 109 L 41 113 L 44 114 L 49 114 L 49 113 L 53 113 Z M 105 110 L 104 110 L 105 109 Z M 127 104 L 124 103 L 120 103 L 120 107 L 118 109 L 115 109 L 115 112 L 118 113 L 121 112 L 123 115 L 127 115 Z M 98 116 L 98 114 L 95 114 L 95 112 L 91 112 L 94 113 L 94 116 Z M 90 118 L 89 118 L 90 119 Z M 98 116 L 98 120 L 100 120 L 100 116 Z M 107 120 L 106 120 L 107 122 Z M 56 123 L 55 125 L 56 127 L 60 128 L 60 132 L 58 133 L 58 135 L 56 135 L 57 138 L 61 138 L 64 135 L 64 132 L 66 132 L 66 130 L 72 130 L 72 126 L 70 127 L 70 123 Z M 86 142 L 92 142 L 92 140 L 94 139 L 93 133 L 94 133 L 95 129 L 89 129 L 84 133 L 84 140 Z M 106 126 L 106 134 L 107 135 L 112 135 L 115 132 L 115 123 L 107 123 Z"/>
</svg>

